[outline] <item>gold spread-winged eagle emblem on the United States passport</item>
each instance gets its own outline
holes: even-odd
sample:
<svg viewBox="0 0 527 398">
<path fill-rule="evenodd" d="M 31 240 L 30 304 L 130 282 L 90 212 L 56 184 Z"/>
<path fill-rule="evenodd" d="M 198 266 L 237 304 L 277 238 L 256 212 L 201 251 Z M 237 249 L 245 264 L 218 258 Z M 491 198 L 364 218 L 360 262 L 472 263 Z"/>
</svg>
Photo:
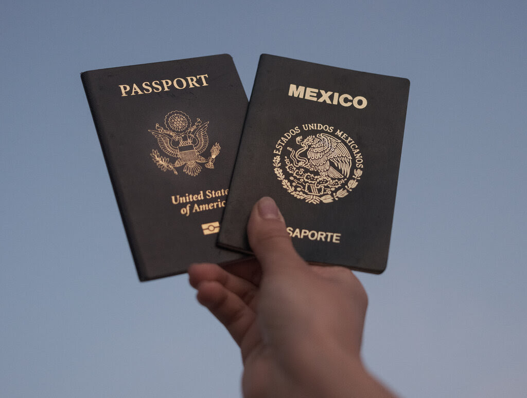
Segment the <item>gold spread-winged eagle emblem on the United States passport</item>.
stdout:
<svg viewBox="0 0 527 398">
<path fill-rule="evenodd" d="M 148 130 L 157 139 L 159 148 L 169 157 L 162 156 L 159 150 L 152 149 L 150 156 L 154 163 L 163 171 L 171 170 L 178 174 L 177 168 L 183 167 L 183 172 L 196 177 L 202 170 L 200 163 L 209 169 L 214 168 L 214 158 L 220 153 L 218 142 L 210 148 L 210 156 L 204 158 L 201 154 L 209 146 L 207 128 L 209 122 L 200 118 L 192 124 L 190 117 L 181 110 L 171 111 L 165 116 L 164 127 L 155 125 L 155 130 Z M 175 158 L 172 162 L 170 157 Z"/>
</svg>

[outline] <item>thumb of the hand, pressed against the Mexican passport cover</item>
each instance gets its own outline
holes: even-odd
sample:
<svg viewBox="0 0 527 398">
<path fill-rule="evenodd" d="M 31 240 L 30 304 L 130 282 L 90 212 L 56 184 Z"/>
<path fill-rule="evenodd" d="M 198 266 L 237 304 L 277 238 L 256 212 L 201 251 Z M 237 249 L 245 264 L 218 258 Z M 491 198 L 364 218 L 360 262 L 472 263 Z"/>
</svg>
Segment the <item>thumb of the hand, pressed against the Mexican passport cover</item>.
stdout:
<svg viewBox="0 0 527 398">
<path fill-rule="evenodd" d="M 284 217 L 271 198 L 263 197 L 256 202 L 247 224 L 247 234 L 264 273 L 306 265 L 293 247 Z"/>
</svg>

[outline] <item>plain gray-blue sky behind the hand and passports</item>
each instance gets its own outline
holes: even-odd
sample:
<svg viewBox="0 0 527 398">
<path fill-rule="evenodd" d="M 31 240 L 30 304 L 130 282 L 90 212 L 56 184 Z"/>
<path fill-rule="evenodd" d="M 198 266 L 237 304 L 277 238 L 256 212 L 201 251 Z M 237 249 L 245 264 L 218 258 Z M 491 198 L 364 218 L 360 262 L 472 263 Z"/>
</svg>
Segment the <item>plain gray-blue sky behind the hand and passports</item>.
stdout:
<svg viewBox="0 0 527 398">
<path fill-rule="evenodd" d="M 3 2 L 4 396 L 239 396 L 187 278 L 140 284 L 84 70 L 261 53 L 411 80 L 364 358 L 406 397 L 527 394 L 525 2 Z"/>
</svg>

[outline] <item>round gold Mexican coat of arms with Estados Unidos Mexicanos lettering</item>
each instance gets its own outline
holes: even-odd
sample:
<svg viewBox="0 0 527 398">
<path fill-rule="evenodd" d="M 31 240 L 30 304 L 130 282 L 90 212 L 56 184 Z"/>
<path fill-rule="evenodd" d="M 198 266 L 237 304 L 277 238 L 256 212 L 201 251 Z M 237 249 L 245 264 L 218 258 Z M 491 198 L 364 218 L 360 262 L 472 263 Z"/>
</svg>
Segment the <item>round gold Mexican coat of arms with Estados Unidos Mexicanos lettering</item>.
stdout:
<svg viewBox="0 0 527 398">
<path fill-rule="evenodd" d="M 364 160 L 353 138 L 333 126 L 296 126 L 277 142 L 272 165 L 292 196 L 308 203 L 330 203 L 344 198 L 363 175 Z M 315 132 L 312 130 L 322 130 Z"/>
</svg>

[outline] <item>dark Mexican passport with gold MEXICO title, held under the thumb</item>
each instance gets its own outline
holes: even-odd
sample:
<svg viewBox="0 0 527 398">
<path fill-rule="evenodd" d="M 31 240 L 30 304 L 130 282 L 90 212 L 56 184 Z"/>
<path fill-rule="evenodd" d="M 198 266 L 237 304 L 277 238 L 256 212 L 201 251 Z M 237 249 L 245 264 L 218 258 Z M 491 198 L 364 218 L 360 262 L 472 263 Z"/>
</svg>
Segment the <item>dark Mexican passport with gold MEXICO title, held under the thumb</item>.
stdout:
<svg viewBox="0 0 527 398">
<path fill-rule="evenodd" d="M 311 263 L 386 268 L 409 80 L 262 55 L 218 244 L 250 252 L 253 204 L 274 198 Z"/>
</svg>

